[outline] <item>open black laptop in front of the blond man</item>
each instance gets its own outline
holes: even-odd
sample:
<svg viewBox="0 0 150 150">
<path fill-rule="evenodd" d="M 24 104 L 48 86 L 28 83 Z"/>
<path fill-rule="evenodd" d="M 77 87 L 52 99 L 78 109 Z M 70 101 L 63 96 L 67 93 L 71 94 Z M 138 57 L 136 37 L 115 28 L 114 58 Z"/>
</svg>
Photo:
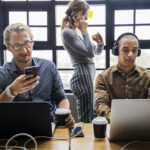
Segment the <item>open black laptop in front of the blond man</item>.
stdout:
<svg viewBox="0 0 150 150">
<path fill-rule="evenodd" d="M 1 139 L 18 133 L 51 137 L 54 130 L 48 102 L 0 102 Z"/>
</svg>

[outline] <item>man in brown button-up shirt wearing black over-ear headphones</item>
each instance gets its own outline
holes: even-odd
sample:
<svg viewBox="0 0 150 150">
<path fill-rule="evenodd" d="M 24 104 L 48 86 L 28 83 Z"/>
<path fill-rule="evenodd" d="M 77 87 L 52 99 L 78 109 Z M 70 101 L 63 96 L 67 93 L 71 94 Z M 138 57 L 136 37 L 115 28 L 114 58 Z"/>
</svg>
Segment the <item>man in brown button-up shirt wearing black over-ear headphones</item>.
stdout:
<svg viewBox="0 0 150 150">
<path fill-rule="evenodd" d="M 99 116 L 110 121 L 113 99 L 150 98 L 150 71 L 135 65 L 140 42 L 133 33 L 124 33 L 114 43 L 112 53 L 118 64 L 103 71 L 95 82 L 95 106 Z"/>
</svg>

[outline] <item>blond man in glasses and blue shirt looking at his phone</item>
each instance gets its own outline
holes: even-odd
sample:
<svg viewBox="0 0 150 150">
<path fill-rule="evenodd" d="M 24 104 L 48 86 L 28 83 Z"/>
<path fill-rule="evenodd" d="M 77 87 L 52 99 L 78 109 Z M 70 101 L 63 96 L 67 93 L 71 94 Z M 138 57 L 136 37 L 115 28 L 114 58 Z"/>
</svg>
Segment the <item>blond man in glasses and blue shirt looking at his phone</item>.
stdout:
<svg viewBox="0 0 150 150">
<path fill-rule="evenodd" d="M 55 105 L 69 110 L 63 84 L 55 65 L 45 59 L 32 58 L 34 45 L 30 28 L 21 23 L 11 24 L 4 31 L 4 44 L 13 60 L 0 67 L 0 101 L 49 101 L 51 117 Z M 24 74 L 25 67 L 37 66 L 38 76 Z M 66 125 L 74 124 L 69 113 Z"/>
</svg>

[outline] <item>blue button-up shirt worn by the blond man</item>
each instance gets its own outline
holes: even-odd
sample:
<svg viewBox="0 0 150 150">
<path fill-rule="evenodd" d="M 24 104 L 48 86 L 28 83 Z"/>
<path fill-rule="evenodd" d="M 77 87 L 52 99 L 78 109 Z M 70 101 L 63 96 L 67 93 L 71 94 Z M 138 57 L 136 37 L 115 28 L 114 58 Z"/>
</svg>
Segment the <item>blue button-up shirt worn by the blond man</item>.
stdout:
<svg viewBox="0 0 150 150">
<path fill-rule="evenodd" d="M 41 58 L 33 58 L 32 60 L 33 65 L 39 68 L 39 84 L 28 92 L 18 94 L 14 101 L 49 101 L 51 117 L 53 117 L 56 105 L 66 98 L 60 75 L 53 62 Z M 21 74 L 24 73 L 16 67 L 14 60 L 1 66 L 0 93 Z"/>
</svg>

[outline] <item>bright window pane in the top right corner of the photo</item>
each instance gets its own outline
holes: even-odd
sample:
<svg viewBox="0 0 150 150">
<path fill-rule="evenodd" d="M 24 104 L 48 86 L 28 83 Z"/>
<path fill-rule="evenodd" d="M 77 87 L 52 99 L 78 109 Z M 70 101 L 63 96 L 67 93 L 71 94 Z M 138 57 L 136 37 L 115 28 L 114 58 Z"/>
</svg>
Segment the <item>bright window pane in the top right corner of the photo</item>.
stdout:
<svg viewBox="0 0 150 150">
<path fill-rule="evenodd" d="M 136 10 L 136 23 L 150 23 L 150 10 Z"/>
</svg>

